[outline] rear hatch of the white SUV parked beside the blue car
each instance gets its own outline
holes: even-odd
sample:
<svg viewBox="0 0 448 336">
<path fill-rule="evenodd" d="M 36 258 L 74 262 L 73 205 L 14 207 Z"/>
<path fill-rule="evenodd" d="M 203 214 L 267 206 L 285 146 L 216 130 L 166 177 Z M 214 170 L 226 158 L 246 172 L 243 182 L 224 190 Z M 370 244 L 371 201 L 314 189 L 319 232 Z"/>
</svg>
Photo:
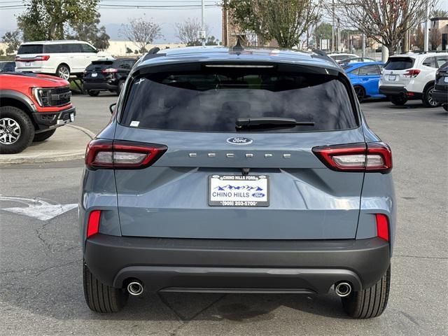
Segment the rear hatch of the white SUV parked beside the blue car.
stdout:
<svg viewBox="0 0 448 336">
<path fill-rule="evenodd" d="M 415 59 L 412 57 L 389 57 L 384 66 L 382 84 L 385 86 L 406 86 L 414 76 L 409 73 L 409 69 L 412 69 L 414 62 Z"/>
</svg>

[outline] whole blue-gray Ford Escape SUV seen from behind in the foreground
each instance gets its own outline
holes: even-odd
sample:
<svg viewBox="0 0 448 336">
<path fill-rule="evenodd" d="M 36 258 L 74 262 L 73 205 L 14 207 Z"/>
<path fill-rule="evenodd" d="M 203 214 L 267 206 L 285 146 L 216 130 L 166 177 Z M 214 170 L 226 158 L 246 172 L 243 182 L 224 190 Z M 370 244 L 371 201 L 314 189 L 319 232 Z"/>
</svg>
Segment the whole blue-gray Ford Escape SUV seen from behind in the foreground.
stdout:
<svg viewBox="0 0 448 336">
<path fill-rule="evenodd" d="M 328 293 L 384 311 L 391 150 L 342 69 L 313 52 L 149 53 L 90 141 L 80 197 L 85 300 L 144 290 Z"/>
</svg>

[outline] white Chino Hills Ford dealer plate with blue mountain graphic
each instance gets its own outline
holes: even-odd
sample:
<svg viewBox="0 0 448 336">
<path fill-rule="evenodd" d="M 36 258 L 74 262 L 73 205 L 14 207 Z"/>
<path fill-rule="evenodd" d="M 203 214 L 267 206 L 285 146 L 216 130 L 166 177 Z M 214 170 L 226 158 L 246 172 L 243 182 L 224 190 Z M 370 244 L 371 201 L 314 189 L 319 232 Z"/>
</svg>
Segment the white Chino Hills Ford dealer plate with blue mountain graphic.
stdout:
<svg viewBox="0 0 448 336">
<path fill-rule="evenodd" d="M 213 207 L 268 207 L 269 177 L 265 175 L 209 176 L 209 205 Z"/>
</svg>

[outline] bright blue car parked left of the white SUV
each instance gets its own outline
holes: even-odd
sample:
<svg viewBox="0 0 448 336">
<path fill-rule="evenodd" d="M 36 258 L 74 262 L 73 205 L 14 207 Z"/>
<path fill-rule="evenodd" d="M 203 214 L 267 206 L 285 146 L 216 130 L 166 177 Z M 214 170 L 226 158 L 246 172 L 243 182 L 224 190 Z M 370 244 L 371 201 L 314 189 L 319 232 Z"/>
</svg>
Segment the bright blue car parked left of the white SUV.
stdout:
<svg viewBox="0 0 448 336">
<path fill-rule="evenodd" d="M 381 76 L 383 62 L 358 62 L 342 66 L 351 85 L 353 85 L 358 100 L 362 102 L 366 98 L 384 98 L 379 94 L 378 82 Z"/>
</svg>

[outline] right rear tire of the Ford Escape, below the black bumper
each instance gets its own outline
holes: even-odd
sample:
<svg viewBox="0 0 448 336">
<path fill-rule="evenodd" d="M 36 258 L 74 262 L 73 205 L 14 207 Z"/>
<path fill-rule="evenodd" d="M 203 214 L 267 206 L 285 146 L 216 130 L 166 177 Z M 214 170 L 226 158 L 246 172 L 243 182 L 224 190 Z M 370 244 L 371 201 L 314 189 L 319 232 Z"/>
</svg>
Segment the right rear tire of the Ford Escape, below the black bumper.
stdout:
<svg viewBox="0 0 448 336">
<path fill-rule="evenodd" d="M 341 297 L 342 307 L 347 315 L 353 318 L 372 318 L 380 316 L 386 309 L 391 288 L 391 267 L 372 287 L 351 292 Z"/>
</svg>

